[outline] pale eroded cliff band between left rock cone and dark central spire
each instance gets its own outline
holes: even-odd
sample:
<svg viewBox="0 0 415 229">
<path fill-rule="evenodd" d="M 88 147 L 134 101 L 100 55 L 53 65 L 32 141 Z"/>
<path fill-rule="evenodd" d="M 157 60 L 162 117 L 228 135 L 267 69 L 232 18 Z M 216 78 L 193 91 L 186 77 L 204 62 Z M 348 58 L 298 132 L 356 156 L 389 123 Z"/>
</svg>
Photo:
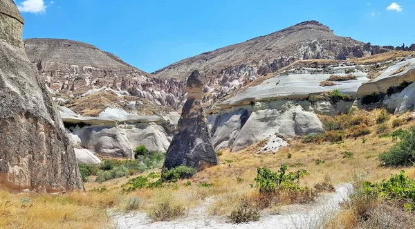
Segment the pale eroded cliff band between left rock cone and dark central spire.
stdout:
<svg viewBox="0 0 415 229">
<path fill-rule="evenodd" d="M 132 158 L 133 150 L 145 145 L 150 151 L 167 151 L 175 130 L 177 113 L 138 116 L 107 108 L 98 117 L 84 117 L 66 107 L 60 114 L 74 145 L 104 156 Z"/>
</svg>

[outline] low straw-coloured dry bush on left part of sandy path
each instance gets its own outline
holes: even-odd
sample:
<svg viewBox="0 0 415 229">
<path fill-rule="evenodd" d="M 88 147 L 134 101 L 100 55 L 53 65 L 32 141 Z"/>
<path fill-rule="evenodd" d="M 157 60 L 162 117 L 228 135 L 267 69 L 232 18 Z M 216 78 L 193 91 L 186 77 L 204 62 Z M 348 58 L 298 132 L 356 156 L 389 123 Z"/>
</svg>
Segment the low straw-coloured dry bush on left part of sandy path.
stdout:
<svg viewBox="0 0 415 229">
<path fill-rule="evenodd" d="M 150 217 L 154 221 L 169 221 L 181 217 L 184 212 L 185 208 L 182 205 L 165 201 L 156 205 Z"/>
</svg>

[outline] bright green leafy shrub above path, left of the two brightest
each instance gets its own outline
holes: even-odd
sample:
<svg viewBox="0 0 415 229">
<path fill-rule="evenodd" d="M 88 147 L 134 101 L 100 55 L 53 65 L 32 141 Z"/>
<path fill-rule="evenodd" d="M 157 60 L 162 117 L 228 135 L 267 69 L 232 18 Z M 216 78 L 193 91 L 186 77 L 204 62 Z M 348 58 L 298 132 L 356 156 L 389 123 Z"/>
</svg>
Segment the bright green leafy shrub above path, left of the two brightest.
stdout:
<svg viewBox="0 0 415 229">
<path fill-rule="evenodd" d="M 272 172 L 267 167 L 257 168 L 255 183 L 261 193 L 273 193 L 282 190 L 299 191 L 304 189 L 299 186 L 299 178 L 307 174 L 306 170 L 298 170 L 286 174 L 287 166 L 282 164 L 277 172 Z"/>
</svg>

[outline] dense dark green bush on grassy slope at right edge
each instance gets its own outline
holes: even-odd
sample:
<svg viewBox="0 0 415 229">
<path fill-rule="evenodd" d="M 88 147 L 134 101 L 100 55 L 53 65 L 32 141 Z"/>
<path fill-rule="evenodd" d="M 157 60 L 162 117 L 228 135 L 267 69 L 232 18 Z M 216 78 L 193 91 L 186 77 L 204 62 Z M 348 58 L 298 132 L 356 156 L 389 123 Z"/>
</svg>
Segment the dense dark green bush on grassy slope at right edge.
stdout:
<svg viewBox="0 0 415 229">
<path fill-rule="evenodd" d="M 389 151 L 380 154 L 379 159 L 385 166 L 412 166 L 415 162 L 415 128 L 398 134 L 401 140 Z"/>
</svg>

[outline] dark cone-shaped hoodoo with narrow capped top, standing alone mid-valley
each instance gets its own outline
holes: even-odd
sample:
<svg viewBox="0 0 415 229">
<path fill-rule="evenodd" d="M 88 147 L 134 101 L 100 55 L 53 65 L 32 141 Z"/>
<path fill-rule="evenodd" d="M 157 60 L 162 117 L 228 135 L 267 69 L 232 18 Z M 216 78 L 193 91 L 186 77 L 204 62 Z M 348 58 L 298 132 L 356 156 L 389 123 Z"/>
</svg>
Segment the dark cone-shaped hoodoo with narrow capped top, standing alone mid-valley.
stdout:
<svg viewBox="0 0 415 229">
<path fill-rule="evenodd" d="M 193 71 L 187 79 L 187 101 L 178 120 L 178 131 L 167 149 L 164 166 L 168 169 L 186 165 L 202 170 L 217 165 L 218 158 L 212 145 L 201 99 L 203 82 L 199 71 Z"/>
</svg>

